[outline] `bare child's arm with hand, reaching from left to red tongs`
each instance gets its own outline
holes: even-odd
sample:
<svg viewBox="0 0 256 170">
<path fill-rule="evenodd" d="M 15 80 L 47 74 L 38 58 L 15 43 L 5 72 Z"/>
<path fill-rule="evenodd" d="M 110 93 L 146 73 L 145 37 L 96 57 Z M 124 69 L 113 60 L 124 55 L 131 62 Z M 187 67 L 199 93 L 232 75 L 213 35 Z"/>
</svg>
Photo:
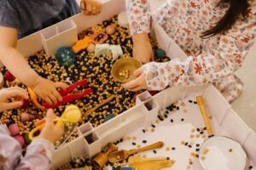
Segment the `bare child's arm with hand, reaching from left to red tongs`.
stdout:
<svg viewBox="0 0 256 170">
<path fill-rule="evenodd" d="M 3 65 L 26 86 L 32 88 L 49 105 L 61 101 L 61 95 L 56 88 L 65 88 L 64 83 L 51 82 L 40 77 L 28 65 L 24 56 L 16 49 L 17 30 L 0 26 L 0 59 Z"/>
</svg>

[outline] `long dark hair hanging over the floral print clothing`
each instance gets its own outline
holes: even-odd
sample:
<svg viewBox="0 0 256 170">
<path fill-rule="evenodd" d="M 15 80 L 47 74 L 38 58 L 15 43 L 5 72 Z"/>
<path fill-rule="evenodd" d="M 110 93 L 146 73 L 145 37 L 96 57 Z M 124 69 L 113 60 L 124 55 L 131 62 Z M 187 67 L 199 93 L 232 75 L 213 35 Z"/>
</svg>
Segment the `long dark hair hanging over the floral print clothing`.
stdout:
<svg viewBox="0 0 256 170">
<path fill-rule="evenodd" d="M 230 30 L 240 15 L 245 17 L 247 8 L 249 7 L 247 0 L 221 0 L 218 6 L 223 3 L 230 3 L 230 8 L 227 10 L 226 14 L 224 14 L 224 17 L 218 21 L 216 26 L 203 32 L 202 37 L 212 37 L 218 33 Z"/>
</svg>

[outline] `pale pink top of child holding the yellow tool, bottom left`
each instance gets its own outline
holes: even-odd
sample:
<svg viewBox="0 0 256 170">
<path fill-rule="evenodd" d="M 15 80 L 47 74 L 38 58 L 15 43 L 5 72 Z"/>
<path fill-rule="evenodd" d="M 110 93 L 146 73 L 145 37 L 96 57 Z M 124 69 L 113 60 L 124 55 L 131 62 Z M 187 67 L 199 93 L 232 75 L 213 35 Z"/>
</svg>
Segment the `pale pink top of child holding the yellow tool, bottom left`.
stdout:
<svg viewBox="0 0 256 170">
<path fill-rule="evenodd" d="M 47 170 L 55 147 L 44 139 L 34 139 L 26 149 L 22 149 L 16 139 L 9 136 L 8 130 L 0 125 L 0 169 L 1 170 Z"/>
</svg>

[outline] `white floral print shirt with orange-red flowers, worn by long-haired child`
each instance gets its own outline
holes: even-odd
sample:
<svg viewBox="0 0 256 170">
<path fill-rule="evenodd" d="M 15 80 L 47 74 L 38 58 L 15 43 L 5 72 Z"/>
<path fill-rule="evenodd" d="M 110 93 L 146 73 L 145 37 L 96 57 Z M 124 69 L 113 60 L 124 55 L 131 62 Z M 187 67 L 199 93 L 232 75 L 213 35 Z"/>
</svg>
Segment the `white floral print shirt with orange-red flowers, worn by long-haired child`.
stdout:
<svg viewBox="0 0 256 170">
<path fill-rule="evenodd" d="M 233 74 L 242 65 L 253 46 L 256 33 L 256 3 L 250 2 L 245 17 L 236 20 L 229 31 L 202 38 L 220 20 L 229 4 L 220 0 L 168 0 L 152 16 L 185 54 L 185 59 L 143 65 L 149 90 L 175 85 L 203 85 Z M 126 0 L 131 35 L 150 31 L 150 7 L 147 0 Z"/>
</svg>

